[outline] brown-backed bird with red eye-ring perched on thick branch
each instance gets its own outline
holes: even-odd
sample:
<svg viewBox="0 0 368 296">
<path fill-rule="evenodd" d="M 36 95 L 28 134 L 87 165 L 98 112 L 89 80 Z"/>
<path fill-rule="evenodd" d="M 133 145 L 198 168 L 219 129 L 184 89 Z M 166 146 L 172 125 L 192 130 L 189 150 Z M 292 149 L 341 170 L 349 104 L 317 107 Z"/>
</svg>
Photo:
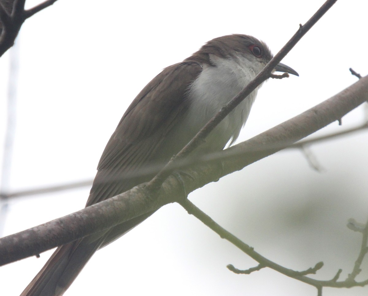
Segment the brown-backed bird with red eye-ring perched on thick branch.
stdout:
<svg viewBox="0 0 368 296">
<path fill-rule="evenodd" d="M 183 62 L 164 68 L 135 97 L 110 137 L 86 207 L 150 181 L 271 58 L 264 42 L 232 34 L 214 38 Z M 282 63 L 273 71 L 299 76 Z M 259 87 L 210 132 L 194 154 L 219 152 L 234 143 Z M 99 248 L 152 213 L 61 245 L 21 296 L 63 295 Z"/>
</svg>

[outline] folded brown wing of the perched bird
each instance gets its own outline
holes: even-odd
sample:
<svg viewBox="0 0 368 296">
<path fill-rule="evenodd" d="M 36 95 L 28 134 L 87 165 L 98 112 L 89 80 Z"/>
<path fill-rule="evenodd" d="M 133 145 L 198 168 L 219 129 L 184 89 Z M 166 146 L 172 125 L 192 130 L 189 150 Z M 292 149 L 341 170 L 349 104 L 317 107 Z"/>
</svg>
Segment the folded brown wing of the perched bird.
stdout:
<svg viewBox="0 0 368 296">
<path fill-rule="evenodd" d="M 102 153 L 86 206 L 149 181 L 170 159 L 175 152 L 162 159 L 162 141 L 188 108 L 187 90 L 201 71 L 197 62 L 172 65 L 137 95 Z"/>
</svg>

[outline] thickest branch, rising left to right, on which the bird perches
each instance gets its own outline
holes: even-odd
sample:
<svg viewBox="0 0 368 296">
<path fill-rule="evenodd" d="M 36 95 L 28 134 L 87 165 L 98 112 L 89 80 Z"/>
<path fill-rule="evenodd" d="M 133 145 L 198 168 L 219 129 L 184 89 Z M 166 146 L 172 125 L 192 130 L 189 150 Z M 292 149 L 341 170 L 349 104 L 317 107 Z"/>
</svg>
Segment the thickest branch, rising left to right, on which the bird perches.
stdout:
<svg viewBox="0 0 368 296">
<path fill-rule="evenodd" d="M 316 107 L 222 153 L 209 156 L 210 161 L 207 164 L 191 169 L 191 177 L 183 174 L 186 191 L 192 192 L 283 149 L 342 118 L 367 99 L 368 76 Z M 220 160 L 222 170 L 218 169 Z M 1 238 L 0 265 L 39 254 L 57 245 L 112 227 L 175 202 L 177 196 L 182 195 L 181 184 L 178 184 L 176 178 L 169 177 L 157 194 L 148 191 L 144 185 L 139 185 L 89 208 Z"/>
</svg>

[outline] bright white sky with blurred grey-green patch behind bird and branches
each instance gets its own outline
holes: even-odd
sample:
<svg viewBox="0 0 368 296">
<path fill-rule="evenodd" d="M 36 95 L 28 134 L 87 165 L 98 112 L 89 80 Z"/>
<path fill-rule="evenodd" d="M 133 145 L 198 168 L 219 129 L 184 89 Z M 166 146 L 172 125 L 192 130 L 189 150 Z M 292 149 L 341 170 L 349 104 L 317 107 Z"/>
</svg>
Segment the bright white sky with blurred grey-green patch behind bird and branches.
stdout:
<svg viewBox="0 0 368 296">
<path fill-rule="evenodd" d="M 36 1 L 27 1 L 28 7 Z M 102 6 L 101 3 L 105 4 Z M 59 0 L 21 29 L 17 129 L 10 189 L 93 178 L 107 140 L 142 87 L 166 66 L 221 35 L 242 33 L 276 53 L 323 1 Z M 283 63 L 300 77 L 268 81 L 239 140 L 322 102 L 368 69 L 367 1 L 337 1 Z M 5 129 L 9 52 L 0 59 L 0 139 Z M 319 134 L 364 121 L 360 107 Z M 0 142 L 3 147 L 3 142 Z M 1 148 L 2 149 L 2 148 Z M 345 226 L 367 219 L 367 133 L 311 147 L 323 167 L 299 151 L 252 164 L 190 195 L 259 253 L 296 270 L 324 261 L 314 278 L 351 272 L 361 237 Z M 2 153 L 2 150 L 1 150 Z M 229 189 L 230 188 L 230 189 Z M 9 203 L 4 235 L 84 207 L 89 188 Z M 19 295 L 51 253 L 0 268 L 1 295 Z M 313 287 L 263 269 L 178 205 L 168 205 L 98 251 L 65 293 L 72 295 L 316 295 Z M 368 277 L 368 264 L 358 279 Z M 325 289 L 367 295 L 368 287 Z"/>
</svg>

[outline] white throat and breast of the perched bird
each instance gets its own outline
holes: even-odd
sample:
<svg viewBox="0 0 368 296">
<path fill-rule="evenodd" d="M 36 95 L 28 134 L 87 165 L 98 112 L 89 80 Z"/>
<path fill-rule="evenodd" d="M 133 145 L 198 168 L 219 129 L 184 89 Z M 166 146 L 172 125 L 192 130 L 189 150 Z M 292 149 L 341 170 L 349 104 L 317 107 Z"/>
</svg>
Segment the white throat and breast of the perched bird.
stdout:
<svg viewBox="0 0 368 296">
<path fill-rule="evenodd" d="M 255 71 L 243 60 L 230 60 L 211 56 L 216 67 L 204 65 L 189 93 L 191 107 L 188 125 L 195 128 L 205 125 L 225 104 L 236 96 L 256 76 Z M 245 98 L 216 127 L 206 142 L 217 149 L 229 140 L 233 143 L 248 119 L 258 88 Z"/>
</svg>

